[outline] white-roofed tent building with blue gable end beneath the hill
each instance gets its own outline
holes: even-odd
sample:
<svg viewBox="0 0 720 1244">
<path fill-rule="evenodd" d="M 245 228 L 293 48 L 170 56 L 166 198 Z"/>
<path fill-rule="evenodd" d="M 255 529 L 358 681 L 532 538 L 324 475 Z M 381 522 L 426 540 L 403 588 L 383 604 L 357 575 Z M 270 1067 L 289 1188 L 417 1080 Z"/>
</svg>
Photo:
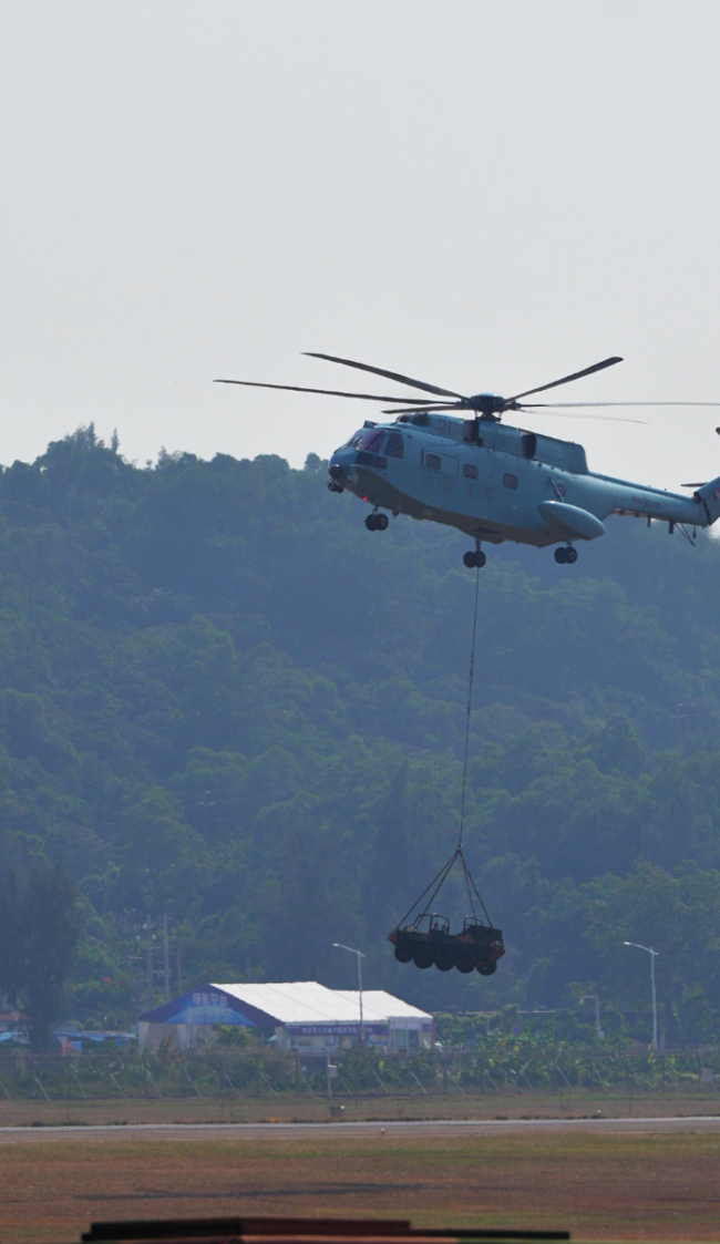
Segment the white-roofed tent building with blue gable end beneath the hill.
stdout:
<svg viewBox="0 0 720 1244">
<path fill-rule="evenodd" d="M 363 1040 L 385 1050 L 434 1044 L 433 1016 L 382 989 L 363 989 Z M 357 990 L 327 989 L 317 980 L 206 984 L 139 1016 L 141 1049 L 165 1040 L 187 1049 L 211 1036 L 218 1024 L 272 1029 L 282 1049 L 326 1054 L 358 1041 Z"/>
</svg>

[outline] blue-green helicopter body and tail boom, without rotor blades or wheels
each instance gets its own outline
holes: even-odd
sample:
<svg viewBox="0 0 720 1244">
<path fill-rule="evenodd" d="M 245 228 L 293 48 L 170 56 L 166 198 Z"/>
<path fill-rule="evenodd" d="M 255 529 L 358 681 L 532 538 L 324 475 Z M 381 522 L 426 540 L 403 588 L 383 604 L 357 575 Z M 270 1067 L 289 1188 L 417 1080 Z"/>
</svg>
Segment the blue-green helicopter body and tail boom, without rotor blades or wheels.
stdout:
<svg viewBox="0 0 720 1244">
<path fill-rule="evenodd" d="M 612 514 L 685 529 L 720 515 L 720 481 L 693 495 L 588 470 L 584 449 L 490 418 L 367 422 L 335 452 L 331 488 L 373 509 L 458 527 L 476 541 L 545 547 L 603 535 Z"/>
</svg>

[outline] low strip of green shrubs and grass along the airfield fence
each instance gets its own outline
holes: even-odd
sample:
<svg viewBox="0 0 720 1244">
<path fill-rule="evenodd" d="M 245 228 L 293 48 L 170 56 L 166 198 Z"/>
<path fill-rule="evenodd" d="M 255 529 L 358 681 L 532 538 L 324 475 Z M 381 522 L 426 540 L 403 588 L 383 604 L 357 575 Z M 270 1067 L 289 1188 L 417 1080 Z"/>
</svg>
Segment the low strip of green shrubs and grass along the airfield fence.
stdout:
<svg viewBox="0 0 720 1244">
<path fill-rule="evenodd" d="M 440 1030 L 445 1026 L 443 1018 L 439 1026 Z M 339 1102 L 344 1098 L 346 1105 L 348 1097 L 374 1097 L 376 1118 L 381 1111 L 385 1111 L 387 1118 L 388 1108 L 392 1115 L 399 1113 L 398 1097 L 414 1097 L 423 1117 L 422 1098 L 440 1093 L 454 1096 L 456 1102 L 460 1095 L 487 1096 L 491 1101 L 486 1110 L 491 1111 L 511 1105 L 509 1098 L 524 1098 L 525 1105 L 517 1100 L 511 1105 L 514 1115 L 519 1108 L 546 1111 L 547 1096 L 552 1095 L 558 1113 L 570 1108 L 570 1117 L 586 1118 L 591 1111 L 596 1115 L 598 1106 L 617 1110 L 618 1098 L 623 1097 L 630 1113 L 633 1100 L 638 1101 L 642 1115 L 653 1108 L 652 1097 L 657 1108 L 658 1095 L 673 1093 L 665 1098 L 667 1111 L 686 1111 L 690 1106 L 693 1113 L 713 1113 L 720 1075 L 720 1051 L 708 1046 L 658 1055 L 647 1049 L 617 1049 L 607 1042 L 532 1040 L 527 1034 L 497 1036 L 465 1047 L 449 1047 L 445 1042 L 410 1055 L 388 1055 L 354 1045 L 337 1050 L 333 1061 L 337 1075 L 331 1081 L 332 1096 Z M 240 1042 L 211 1039 L 179 1056 L 167 1046 L 141 1055 L 137 1047 L 118 1050 L 111 1042 L 104 1047 L 96 1045 L 72 1060 L 0 1055 L 0 1086 L 10 1100 L 34 1098 L 37 1103 L 42 1093 L 46 1101 L 65 1101 L 66 1117 L 76 1122 L 77 1106 L 85 1113 L 83 1107 L 93 1098 L 96 1102 L 116 1098 L 126 1107 L 132 1098 L 174 1098 L 180 1112 L 178 1098 L 196 1100 L 196 1095 L 204 1098 L 206 1108 L 215 1102 L 215 1117 L 236 1122 L 247 1121 L 249 1097 L 264 1097 L 266 1108 L 272 1108 L 275 1100 L 277 1117 L 277 1098 L 288 1095 L 292 1110 L 302 1117 L 310 1095 L 320 1098 L 317 1105 L 322 1110 L 327 1085 L 325 1060 L 296 1057 L 262 1039 Z M 378 1098 L 384 1098 L 384 1106 Z M 284 1113 L 288 1106 L 286 1097 Z M 313 1115 L 318 1117 L 315 1111 Z"/>
</svg>

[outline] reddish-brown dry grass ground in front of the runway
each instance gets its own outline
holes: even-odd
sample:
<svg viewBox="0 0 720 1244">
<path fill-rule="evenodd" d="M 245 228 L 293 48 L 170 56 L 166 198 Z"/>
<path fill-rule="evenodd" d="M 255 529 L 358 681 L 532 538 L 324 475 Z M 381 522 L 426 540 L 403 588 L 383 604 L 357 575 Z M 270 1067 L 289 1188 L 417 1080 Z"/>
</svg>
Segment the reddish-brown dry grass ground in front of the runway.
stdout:
<svg viewBox="0 0 720 1244">
<path fill-rule="evenodd" d="M 357 1214 L 526 1227 L 577 1240 L 720 1239 L 720 1132 L 91 1141 L 0 1148 L 1 1244 L 91 1220 Z"/>
</svg>

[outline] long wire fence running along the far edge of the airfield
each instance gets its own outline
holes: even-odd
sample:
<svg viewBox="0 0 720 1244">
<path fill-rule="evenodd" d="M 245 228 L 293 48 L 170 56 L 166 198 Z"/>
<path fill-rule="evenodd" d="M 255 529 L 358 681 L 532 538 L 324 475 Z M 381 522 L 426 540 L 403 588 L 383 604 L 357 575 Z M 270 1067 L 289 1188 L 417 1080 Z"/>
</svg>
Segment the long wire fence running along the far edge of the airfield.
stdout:
<svg viewBox="0 0 720 1244">
<path fill-rule="evenodd" d="M 336 1051 L 335 1097 L 485 1096 L 567 1093 L 579 1090 L 642 1096 L 657 1092 L 713 1095 L 720 1088 L 720 1049 L 602 1050 L 547 1046 L 432 1050 L 417 1055 L 369 1049 Z M 177 1098 L 238 1097 L 327 1092 L 325 1056 L 282 1054 L 256 1047 L 234 1051 L 204 1047 L 183 1054 L 137 1050 L 71 1056 L 29 1051 L 0 1055 L 0 1086 L 6 1100 L 37 1097 Z M 454 1087 L 453 1087 L 454 1086 Z M 2 1098 L 0 1098 L 0 1112 Z"/>
</svg>

